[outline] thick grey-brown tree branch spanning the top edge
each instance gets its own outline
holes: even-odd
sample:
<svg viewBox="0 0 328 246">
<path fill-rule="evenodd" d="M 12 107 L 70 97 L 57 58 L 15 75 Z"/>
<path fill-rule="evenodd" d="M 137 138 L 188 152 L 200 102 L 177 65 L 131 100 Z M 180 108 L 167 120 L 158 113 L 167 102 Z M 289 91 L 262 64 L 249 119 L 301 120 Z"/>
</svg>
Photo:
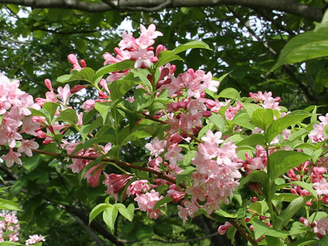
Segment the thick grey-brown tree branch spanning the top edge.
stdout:
<svg viewBox="0 0 328 246">
<path fill-rule="evenodd" d="M 214 7 L 219 5 L 237 5 L 248 8 L 263 8 L 295 14 L 309 20 L 320 22 L 323 10 L 310 5 L 301 4 L 295 0 L 129 0 L 90 3 L 78 0 L 0 0 L 0 3 L 29 6 L 31 8 L 65 8 L 83 10 L 86 12 L 107 12 L 111 10 L 154 12 L 164 8 L 181 7 Z"/>
</svg>

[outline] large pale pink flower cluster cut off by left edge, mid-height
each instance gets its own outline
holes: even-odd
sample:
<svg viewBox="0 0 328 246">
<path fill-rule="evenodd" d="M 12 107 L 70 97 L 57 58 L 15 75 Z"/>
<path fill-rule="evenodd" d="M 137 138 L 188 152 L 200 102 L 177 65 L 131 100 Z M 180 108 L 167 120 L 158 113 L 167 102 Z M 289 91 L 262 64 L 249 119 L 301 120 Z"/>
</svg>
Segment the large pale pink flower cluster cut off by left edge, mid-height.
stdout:
<svg viewBox="0 0 328 246">
<path fill-rule="evenodd" d="M 36 130 L 39 128 L 39 124 L 27 116 L 31 115 L 29 108 L 38 110 L 40 106 L 33 102 L 31 95 L 21 91 L 18 86 L 18 80 L 10 81 L 0 73 L 0 146 L 8 145 L 10 147 L 10 152 L 1 156 L 1 159 L 8 167 L 14 163 L 21 165 L 20 153 L 25 152 L 27 156 L 31 156 L 31 150 L 39 147 L 34 139 L 23 139 L 20 134 L 27 133 L 37 136 Z M 22 127 L 20 128 L 20 126 Z M 13 148 L 16 147 L 18 140 L 21 141 L 21 145 L 18 152 L 14 152 Z"/>
</svg>

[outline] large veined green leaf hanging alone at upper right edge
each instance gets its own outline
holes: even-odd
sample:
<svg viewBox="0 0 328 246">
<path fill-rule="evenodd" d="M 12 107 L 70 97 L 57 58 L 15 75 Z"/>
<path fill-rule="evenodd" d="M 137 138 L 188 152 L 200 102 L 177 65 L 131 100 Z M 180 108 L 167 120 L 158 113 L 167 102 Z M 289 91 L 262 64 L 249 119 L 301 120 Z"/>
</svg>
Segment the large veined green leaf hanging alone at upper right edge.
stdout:
<svg viewBox="0 0 328 246">
<path fill-rule="evenodd" d="M 269 72 L 283 64 L 292 64 L 299 61 L 325 57 L 328 55 L 328 27 L 317 31 L 301 33 L 284 46 L 275 66 Z"/>
</svg>

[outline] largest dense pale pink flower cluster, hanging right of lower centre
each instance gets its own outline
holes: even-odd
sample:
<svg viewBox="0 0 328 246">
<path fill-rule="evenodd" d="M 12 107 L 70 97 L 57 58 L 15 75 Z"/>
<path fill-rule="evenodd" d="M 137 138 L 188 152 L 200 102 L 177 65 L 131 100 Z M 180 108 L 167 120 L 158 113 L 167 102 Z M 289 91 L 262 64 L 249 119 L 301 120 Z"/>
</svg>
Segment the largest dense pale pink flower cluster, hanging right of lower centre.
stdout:
<svg viewBox="0 0 328 246">
<path fill-rule="evenodd" d="M 233 195 L 232 190 L 239 184 L 236 179 L 241 178 L 241 163 L 236 156 L 237 146 L 232 141 L 222 143 L 221 133 L 214 134 L 210 130 L 202 140 L 204 143 L 200 143 L 196 157 L 191 160 L 197 170 L 192 175 L 193 187 L 186 190 L 191 195 L 191 204 L 186 206 L 184 202 L 185 208 L 179 207 L 184 219 L 195 213 L 197 202 L 205 202 L 202 208 L 208 215 L 213 210 L 219 210 L 221 202 L 229 204 L 228 196 Z"/>
</svg>

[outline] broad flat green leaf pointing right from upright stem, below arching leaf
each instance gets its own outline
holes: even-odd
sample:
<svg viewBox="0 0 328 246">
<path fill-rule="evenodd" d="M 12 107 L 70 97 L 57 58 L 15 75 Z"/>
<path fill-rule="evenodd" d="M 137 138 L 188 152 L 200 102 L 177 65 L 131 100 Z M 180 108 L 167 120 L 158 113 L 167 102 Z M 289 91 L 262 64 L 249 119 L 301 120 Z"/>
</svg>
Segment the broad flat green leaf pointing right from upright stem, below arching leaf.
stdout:
<svg viewBox="0 0 328 246">
<path fill-rule="evenodd" d="M 298 167 L 308 159 L 310 159 L 310 156 L 302 152 L 286 150 L 273 152 L 271 156 L 269 156 L 268 161 L 270 170 L 269 176 L 271 177 L 271 180 L 275 180 L 275 178 L 288 172 L 288 170 L 294 167 Z"/>
</svg>

